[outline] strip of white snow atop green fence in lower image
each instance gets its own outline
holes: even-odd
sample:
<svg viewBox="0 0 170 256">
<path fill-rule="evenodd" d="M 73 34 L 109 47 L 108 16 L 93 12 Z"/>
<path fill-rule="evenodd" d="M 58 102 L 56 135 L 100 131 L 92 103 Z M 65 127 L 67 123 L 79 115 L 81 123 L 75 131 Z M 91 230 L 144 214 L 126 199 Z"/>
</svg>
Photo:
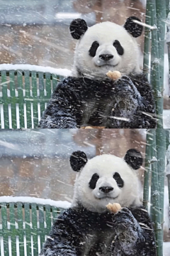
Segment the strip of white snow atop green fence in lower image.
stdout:
<svg viewBox="0 0 170 256">
<path fill-rule="evenodd" d="M 37 203 L 67 209 L 71 206 L 68 201 L 54 201 L 51 199 L 35 198 L 31 196 L 0 196 L 0 203 Z"/>
</svg>

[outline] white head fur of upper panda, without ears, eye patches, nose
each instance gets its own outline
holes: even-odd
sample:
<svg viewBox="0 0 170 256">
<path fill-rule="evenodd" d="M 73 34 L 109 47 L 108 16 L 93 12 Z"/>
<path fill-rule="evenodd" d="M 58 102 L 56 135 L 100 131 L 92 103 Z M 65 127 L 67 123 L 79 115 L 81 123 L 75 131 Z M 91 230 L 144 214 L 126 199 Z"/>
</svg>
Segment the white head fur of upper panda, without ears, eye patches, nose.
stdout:
<svg viewBox="0 0 170 256">
<path fill-rule="evenodd" d="M 118 55 L 113 46 L 115 40 L 120 41 L 124 49 L 123 55 Z M 100 46 L 92 58 L 89 55 L 89 49 L 94 41 L 98 41 Z M 114 58 L 106 62 L 99 58 L 101 54 L 112 54 Z M 122 75 L 141 73 L 139 55 L 136 39 L 123 26 L 109 21 L 98 23 L 88 28 L 84 36 L 77 42 L 73 75 L 78 75 L 77 68 L 84 75 L 96 79 L 106 78 L 108 70 L 118 70 Z"/>
</svg>

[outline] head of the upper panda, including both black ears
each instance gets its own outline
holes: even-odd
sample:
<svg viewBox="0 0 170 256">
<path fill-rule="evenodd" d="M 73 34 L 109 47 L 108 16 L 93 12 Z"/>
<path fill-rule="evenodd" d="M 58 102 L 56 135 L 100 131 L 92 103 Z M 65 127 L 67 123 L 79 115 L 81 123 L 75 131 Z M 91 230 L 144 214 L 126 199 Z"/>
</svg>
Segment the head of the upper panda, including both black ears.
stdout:
<svg viewBox="0 0 170 256">
<path fill-rule="evenodd" d="M 90 28 L 77 18 L 70 24 L 70 32 L 77 39 L 74 54 L 74 75 L 104 79 L 108 70 L 122 75 L 141 73 L 139 48 L 135 38 L 142 34 L 140 19 L 131 16 L 124 26 L 109 21 Z"/>
</svg>

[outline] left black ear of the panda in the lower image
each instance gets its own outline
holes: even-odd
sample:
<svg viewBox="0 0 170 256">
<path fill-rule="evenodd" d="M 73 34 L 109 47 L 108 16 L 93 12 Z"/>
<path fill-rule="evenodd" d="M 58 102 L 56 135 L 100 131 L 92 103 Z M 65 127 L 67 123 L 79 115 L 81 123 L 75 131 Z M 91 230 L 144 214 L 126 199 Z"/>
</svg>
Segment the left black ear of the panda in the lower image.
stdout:
<svg viewBox="0 0 170 256">
<path fill-rule="evenodd" d="M 81 167 L 84 167 L 88 160 L 83 151 L 74 151 L 69 161 L 73 171 L 80 171 Z"/>
</svg>

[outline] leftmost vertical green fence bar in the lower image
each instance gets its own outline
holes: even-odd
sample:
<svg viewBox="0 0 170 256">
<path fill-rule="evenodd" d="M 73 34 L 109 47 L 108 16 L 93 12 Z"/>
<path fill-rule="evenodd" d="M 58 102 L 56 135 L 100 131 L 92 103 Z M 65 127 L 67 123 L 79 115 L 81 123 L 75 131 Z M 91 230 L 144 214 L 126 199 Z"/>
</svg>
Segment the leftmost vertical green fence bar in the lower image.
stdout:
<svg viewBox="0 0 170 256">
<path fill-rule="evenodd" d="M 1 203 L 1 218 L 2 218 L 2 233 L 3 233 L 3 240 L 4 240 L 4 256 L 9 255 L 9 250 L 8 250 L 8 235 L 9 235 L 9 230 L 7 227 L 7 206 L 6 203 Z"/>
</svg>

